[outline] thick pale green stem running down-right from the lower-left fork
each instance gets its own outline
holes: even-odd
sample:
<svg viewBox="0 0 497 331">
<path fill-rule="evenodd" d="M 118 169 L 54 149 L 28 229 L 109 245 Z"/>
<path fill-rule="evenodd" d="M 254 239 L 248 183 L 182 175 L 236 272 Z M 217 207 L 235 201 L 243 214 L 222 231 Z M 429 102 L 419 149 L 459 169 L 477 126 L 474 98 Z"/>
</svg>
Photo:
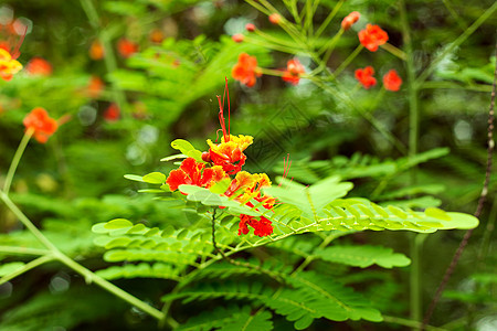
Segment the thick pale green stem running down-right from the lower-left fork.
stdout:
<svg viewBox="0 0 497 331">
<path fill-rule="evenodd" d="M 161 320 L 163 318 L 163 314 L 162 314 L 162 312 L 160 310 L 151 307 L 150 305 L 148 305 L 148 303 L 146 303 L 146 302 L 144 302 L 141 300 L 139 300 L 138 298 L 131 296 L 130 293 L 128 293 L 125 290 L 118 288 L 117 286 L 115 286 L 114 284 L 105 280 L 104 278 L 95 275 L 93 271 L 86 269 L 85 267 L 83 267 L 78 263 L 74 261 L 73 259 L 71 259 L 66 255 L 64 255 L 64 254 L 59 252 L 59 253 L 55 254 L 55 257 L 61 263 L 63 263 L 64 265 L 70 267 L 71 269 L 73 269 L 77 274 L 82 275 L 85 278 L 87 284 L 95 282 L 96 285 L 98 285 L 103 289 L 105 289 L 108 292 L 115 295 L 116 297 L 123 299 L 124 301 L 135 306 L 136 308 L 138 308 L 141 311 L 150 314 L 151 317 L 156 318 L 157 320 Z"/>
</svg>

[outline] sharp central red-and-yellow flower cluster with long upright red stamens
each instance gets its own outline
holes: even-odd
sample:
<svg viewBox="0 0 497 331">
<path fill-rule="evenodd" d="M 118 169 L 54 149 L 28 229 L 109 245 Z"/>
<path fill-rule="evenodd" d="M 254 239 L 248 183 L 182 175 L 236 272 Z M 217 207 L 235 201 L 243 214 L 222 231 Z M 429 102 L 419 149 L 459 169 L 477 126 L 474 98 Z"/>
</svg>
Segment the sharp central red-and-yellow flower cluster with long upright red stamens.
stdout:
<svg viewBox="0 0 497 331">
<path fill-rule="evenodd" d="M 176 191 L 183 184 L 209 189 L 220 181 L 230 181 L 224 196 L 232 197 L 248 207 L 257 205 L 271 210 L 275 200 L 261 191 L 271 186 L 267 174 L 242 171 L 246 160 L 244 151 L 252 145 L 253 137 L 230 135 L 230 122 L 228 129 L 224 124 L 224 103 L 221 103 L 220 97 L 218 99 L 223 131 L 221 142 L 215 143 L 208 139 L 209 150 L 202 153 L 202 161 L 193 158 L 184 159 L 178 169 L 169 172 L 166 183 L 171 191 Z M 254 228 L 254 235 L 260 237 L 273 234 L 272 222 L 264 216 L 240 215 L 239 235 L 248 234 L 248 226 Z"/>
</svg>

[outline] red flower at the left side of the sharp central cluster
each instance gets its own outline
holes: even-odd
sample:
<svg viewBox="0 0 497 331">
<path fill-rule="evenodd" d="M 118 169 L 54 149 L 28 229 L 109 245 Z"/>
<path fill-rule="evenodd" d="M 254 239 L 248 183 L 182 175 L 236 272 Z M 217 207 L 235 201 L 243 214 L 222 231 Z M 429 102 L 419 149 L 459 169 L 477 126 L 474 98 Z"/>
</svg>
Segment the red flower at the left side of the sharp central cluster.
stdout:
<svg viewBox="0 0 497 331">
<path fill-rule="evenodd" d="M 197 162 L 193 158 L 187 158 L 181 162 L 179 169 L 169 172 L 166 183 L 171 191 L 178 190 L 178 186 L 183 184 L 210 188 L 226 177 L 221 167 L 214 166 L 207 169 L 204 167 L 204 163 Z"/>
</svg>

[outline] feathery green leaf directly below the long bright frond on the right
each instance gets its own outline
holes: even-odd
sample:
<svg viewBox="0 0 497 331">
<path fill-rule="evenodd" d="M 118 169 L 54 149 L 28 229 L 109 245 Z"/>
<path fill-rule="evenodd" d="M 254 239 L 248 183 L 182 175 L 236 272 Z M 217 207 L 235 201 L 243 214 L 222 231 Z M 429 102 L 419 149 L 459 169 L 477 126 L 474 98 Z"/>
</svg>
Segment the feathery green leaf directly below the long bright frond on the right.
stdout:
<svg viewBox="0 0 497 331">
<path fill-rule="evenodd" d="M 403 254 L 382 246 L 331 246 L 318 249 L 315 256 L 331 263 L 367 268 L 373 264 L 383 268 L 405 267 L 411 260 Z"/>
</svg>

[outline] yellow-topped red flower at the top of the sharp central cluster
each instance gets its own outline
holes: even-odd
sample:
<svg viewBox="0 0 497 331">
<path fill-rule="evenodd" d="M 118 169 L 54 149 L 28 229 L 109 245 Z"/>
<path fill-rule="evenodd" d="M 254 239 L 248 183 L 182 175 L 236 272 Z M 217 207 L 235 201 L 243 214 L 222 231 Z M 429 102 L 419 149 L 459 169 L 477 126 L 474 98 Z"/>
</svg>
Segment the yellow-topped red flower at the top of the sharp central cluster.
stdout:
<svg viewBox="0 0 497 331">
<path fill-rule="evenodd" d="M 205 156 L 204 161 L 212 162 L 215 166 L 221 166 L 228 174 L 235 174 L 245 164 L 246 156 L 243 151 L 252 145 L 254 138 L 251 136 L 228 136 L 221 138 L 221 143 L 214 143 L 208 139 L 209 156 Z M 228 140 L 228 141 L 226 141 Z"/>
</svg>

